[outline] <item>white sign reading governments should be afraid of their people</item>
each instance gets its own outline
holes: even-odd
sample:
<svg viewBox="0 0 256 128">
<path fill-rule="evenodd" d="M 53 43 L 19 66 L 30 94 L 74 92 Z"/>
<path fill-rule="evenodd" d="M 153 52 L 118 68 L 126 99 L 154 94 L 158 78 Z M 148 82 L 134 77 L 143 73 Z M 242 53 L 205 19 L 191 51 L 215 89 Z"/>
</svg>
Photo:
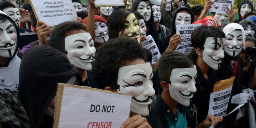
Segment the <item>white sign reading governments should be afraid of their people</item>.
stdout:
<svg viewBox="0 0 256 128">
<path fill-rule="evenodd" d="M 36 19 L 48 26 L 77 20 L 77 13 L 71 0 L 30 0 L 30 3 Z"/>
</svg>

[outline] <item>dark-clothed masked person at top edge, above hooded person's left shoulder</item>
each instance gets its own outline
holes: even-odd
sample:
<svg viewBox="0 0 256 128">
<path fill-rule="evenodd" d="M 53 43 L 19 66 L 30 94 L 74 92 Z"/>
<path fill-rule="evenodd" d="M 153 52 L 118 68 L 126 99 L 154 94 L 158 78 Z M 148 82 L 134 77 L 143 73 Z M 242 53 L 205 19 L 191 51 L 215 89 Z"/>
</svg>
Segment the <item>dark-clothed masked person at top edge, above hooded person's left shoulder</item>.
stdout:
<svg viewBox="0 0 256 128">
<path fill-rule="evenodd" d="M 160 12 L 161 12 L 161 21 L 160 24 L 166 26 L 169 31 L 172 30 L 172 11 L 173 6 L 171 0 L 161 0 Z"/>
</svg>

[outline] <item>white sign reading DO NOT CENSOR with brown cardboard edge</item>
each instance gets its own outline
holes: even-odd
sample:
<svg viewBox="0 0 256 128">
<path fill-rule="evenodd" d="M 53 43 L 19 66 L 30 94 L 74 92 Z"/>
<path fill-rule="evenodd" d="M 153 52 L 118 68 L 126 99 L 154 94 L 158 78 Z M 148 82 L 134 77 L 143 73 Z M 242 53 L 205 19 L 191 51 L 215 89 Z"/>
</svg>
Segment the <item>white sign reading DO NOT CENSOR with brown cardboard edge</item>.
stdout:
<svg viewBox="0 0 256 128">
<path fill-rule="evenodd" d="M 131 98 L 59 83 L 53 128 L 119 128 L 129 117 Z"/>
</svg>

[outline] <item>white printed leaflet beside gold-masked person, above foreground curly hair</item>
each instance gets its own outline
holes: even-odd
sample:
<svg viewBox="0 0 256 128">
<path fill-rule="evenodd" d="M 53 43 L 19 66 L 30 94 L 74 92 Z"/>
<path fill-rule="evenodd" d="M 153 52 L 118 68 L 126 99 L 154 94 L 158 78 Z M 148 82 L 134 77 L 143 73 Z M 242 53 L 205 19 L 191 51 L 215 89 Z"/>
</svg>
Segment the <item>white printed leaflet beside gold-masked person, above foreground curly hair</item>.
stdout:
<svg viewBox="0 0 256 128">
<path fill-rule="evenodd" d="M 154 42 L 154 39 L 151 35 L 146 36 L 146 40 L 144 40 L 141 44 L 141 46 L 145 49 L 148 49 L 152 53 L 152 62 L 151 64 L 156 64 L 159 58 L 161 57 L 161 54 L 159 52 L 159 49 L 157 47 L 156 42 Z"/>
</svg>

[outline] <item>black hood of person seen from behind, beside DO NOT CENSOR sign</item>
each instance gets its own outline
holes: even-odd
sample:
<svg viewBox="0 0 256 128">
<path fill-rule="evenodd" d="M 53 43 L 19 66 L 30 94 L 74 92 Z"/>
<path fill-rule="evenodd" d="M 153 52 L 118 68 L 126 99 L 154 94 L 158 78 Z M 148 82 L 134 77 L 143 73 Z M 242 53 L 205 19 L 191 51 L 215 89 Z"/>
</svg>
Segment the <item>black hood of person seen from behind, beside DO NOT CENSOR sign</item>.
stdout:
<svg viewBox="0 0 256 128">
<path fill-rule="evenodd" d="M 24 53 L 20 64 L 18 94 L 32 128 L 44 125 L 42 117 L 56 95 L 57 83 L 66 83 L 76 74 L 77 68 L 50 46 L 33 46 Z M 81 77 L 78 80 L 78 85 L 81 85 Z"/>
</svg>

